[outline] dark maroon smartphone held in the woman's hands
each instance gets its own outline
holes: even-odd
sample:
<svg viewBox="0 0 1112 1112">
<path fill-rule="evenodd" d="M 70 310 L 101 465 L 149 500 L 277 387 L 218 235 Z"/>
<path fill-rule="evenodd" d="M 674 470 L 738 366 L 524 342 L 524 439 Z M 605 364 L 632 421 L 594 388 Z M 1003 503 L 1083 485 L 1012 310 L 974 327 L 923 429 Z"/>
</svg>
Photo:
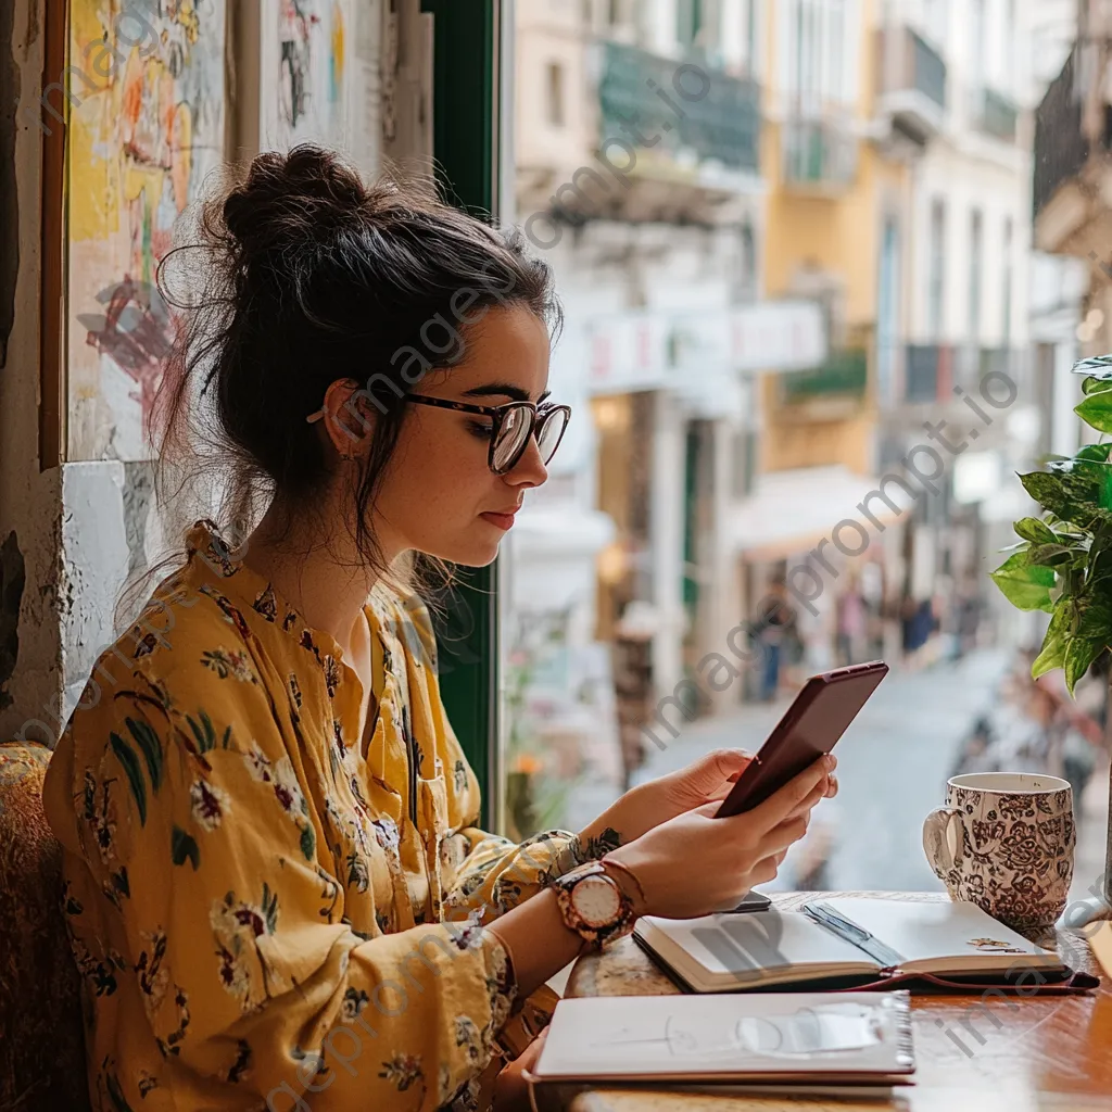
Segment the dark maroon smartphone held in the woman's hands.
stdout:
<svg viewBox="0 0 1112 1112">
<path fill-rule="evenodd" d="M 824 753 L 830 753 L 887 674 L 888 666 L 883 661 L 872 661 L 812 676 L 761 752 L 737 777 L 714 817 L 752 811 Z"/>
</svg>

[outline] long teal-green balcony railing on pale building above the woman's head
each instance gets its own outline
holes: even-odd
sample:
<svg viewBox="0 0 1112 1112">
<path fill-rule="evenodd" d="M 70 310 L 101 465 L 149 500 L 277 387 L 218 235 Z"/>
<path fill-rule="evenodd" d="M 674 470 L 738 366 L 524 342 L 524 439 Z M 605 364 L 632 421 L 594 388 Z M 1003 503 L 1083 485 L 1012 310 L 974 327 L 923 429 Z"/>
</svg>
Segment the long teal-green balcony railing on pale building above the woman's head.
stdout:
<svg viewBox="0 0 1112 1112">
<path fill-rule="evenodd" d="M 709 88 L 695 99 L 697 75 L 685 75 L 681 66 L 674 59 L 636 47 L 603 43 L 598 82 L 603 136 L 626 136 L 635 127 L 647 137 L 659 137 L 652 147 L 654 151 L 692 151 L 699 161 L 715 159 L 731 169 L 757 172 L 761 87 L 755 81 L 704 69 Z M 681 90 L 689 89 L 692 96 L 684 97 L 676 83 Z M 677 118 L 654 89 L 666 92 L 683 117 Z"/>
</svg>

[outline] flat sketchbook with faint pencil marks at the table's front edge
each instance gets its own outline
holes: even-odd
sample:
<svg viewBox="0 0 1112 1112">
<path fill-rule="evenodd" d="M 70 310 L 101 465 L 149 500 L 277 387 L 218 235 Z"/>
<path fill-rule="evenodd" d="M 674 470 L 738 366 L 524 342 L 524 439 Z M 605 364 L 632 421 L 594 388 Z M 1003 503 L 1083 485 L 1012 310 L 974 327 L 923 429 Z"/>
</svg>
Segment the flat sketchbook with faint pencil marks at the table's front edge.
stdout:
<svg viewBox="0 0 1112 1112">
<path fill-rule="evenodd" d="M 604 996 L 556 1005 L 533 1080 L 875 1094 L 914 1072 L 905 992 Z"/>
</svg>

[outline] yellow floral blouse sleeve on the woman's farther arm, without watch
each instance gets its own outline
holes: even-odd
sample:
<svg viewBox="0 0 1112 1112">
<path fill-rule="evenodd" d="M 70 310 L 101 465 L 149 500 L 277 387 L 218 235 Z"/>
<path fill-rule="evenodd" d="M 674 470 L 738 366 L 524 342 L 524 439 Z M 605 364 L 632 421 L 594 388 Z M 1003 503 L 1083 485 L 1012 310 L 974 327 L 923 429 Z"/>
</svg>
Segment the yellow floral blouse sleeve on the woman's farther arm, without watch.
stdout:
<svg viewBox="0 0 1112 1112">
<path fill-rule="evenodd" d="M 480 794 L 475 773 L 464 755 L 440 699 L 436 638 L 428 610 L 416 596 L 395 618 L 413 662 L 410 686 L 428 707 L 437 755 L 448 770 L 450 830 L 443 854 L 444 910 L 448 920 L 477 916 L 489 923 L 540 892 L 576 865 L 602 857 L 618 845 L 615 831 L 583 842 L 577 834 L 548 830 L 512 842 L 478 826 Z"/>
</svg>

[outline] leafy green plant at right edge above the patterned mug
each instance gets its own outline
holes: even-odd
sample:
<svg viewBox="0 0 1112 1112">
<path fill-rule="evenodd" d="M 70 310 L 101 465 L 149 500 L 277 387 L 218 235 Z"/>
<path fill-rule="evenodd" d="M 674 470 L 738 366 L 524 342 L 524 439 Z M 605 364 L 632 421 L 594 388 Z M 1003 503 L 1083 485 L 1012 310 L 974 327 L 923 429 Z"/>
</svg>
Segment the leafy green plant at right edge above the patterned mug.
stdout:
<svg viewBox="0 0 1112 1112">
<path fill-rule="evenodd" d="M 1112 434 L 1112 355 L 1082 359 L 1084 397 L 1074 413 L 1091 428 Z M 1020 481 L 1042 508 L 1014 528 L 1020 542 L 992 573 L 996 586 L 1023 610 L 1051 615 L 1034 678 L 1062 668 L 1073 694 L 1076 682 L 1112 645 L 1112 441 L 1089 444 L 1075 456 L 1052 457 L 1046 469 L 1021 475 Z M 1110 671 L 1112 684 L 1112 671 Z M 1112 696 L 1112 689 L 1110 689 Z M 1112 702 L 1105 743 L 1112 739 Z M 1112 775 L 1109 777 L 1112 804 Z M 1092 917 L 1108 917 L 1112 906 L 1112 822 L 1102 881 L 1104 901 L 1091 901 Z M 1074 925 L 1081 925 L 1071 915 Z"/>
</svg>

